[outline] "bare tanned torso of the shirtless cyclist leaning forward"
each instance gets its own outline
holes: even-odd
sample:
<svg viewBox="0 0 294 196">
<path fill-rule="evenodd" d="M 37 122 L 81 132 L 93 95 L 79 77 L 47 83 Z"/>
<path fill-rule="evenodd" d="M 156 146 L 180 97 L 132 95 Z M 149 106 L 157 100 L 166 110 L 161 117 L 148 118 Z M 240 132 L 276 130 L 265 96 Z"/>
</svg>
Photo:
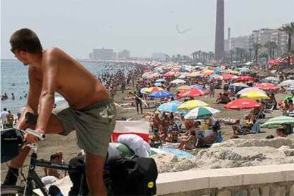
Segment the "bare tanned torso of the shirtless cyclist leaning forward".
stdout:
<svg viewBox="0 0 294 196">
<path fill-rule="evenodd" d="M 83 109 L 95 102 L 110 98 L 107 89 L 80 62 L 59 48 L 49 50 L 43 51 L 43 58 L 48 58 L 50 55 L 50 61 L 58 67 L 58 73 L 55 75 L 56 92 L 67 100 L 70 107 Z M 45 71 L 46 69 L 33 66 L 29 69 L 29 74 L 39 81 L 40 88 L 42 88 Z"/>
</svg>

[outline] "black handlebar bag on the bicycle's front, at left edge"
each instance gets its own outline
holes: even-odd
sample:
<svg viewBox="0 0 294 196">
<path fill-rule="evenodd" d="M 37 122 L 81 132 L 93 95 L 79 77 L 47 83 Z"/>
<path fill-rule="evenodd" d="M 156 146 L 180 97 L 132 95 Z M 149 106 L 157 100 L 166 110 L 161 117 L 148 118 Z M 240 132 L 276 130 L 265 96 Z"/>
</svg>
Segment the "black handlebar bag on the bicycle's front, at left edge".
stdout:
<svg viewBox="0 0 294 196">
<path fill-rule="evenodd" d="M 22 144 L 23 134 L 20 130 L 12 128 L 1 131 L 1 163 L 18 156 Z"/>
</svg>

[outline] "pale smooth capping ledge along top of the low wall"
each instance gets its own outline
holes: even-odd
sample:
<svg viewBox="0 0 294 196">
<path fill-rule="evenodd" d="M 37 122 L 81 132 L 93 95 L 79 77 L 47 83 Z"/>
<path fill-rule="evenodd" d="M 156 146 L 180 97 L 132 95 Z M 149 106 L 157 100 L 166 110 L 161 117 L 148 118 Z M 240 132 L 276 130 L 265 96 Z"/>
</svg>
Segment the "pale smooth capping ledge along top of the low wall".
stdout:
<svg viewBox="0 0 294 196">
<path fill-rule="evenodd" d="M 222 187 L 288 182 L 294 180 L 294 164 L 264 165 L 213 170 L 187 170 L 158 175 L 157 195 Z"/>
</svg>

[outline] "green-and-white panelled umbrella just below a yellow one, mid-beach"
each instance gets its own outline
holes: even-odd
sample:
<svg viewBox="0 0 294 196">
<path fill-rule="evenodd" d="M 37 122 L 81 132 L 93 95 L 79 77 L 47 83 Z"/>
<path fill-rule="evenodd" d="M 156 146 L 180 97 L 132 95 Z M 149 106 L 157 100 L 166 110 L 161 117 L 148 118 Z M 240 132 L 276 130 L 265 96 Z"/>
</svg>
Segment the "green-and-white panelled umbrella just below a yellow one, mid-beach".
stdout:
<svg viewBox="0 0 294 196">
<path fill-rule="evenodd" d="M 212 107 L 196 107 L 185 115 L 185 119 L 201 119 L 206 116 L 212 116 L 212 114 L 216 114 L 217 112 L 219 110 Z"/>
</svg>

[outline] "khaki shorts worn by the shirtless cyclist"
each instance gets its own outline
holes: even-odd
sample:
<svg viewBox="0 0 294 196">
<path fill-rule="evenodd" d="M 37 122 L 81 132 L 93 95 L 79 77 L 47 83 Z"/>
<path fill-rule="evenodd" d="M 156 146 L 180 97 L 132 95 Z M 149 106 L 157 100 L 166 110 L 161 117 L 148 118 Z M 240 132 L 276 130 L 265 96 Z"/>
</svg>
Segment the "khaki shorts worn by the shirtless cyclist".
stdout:
<svg viewBox="0 0 294 196">
<path fill-rule="evenodd" d="M 116 123 L 116 108 L 112 99 L 105 99 L 85 109 L 55 109 L 67 136 L 75 130 L 77 145 L 86 152 L 106 157 L 110 136 Z"/>
</svg>

